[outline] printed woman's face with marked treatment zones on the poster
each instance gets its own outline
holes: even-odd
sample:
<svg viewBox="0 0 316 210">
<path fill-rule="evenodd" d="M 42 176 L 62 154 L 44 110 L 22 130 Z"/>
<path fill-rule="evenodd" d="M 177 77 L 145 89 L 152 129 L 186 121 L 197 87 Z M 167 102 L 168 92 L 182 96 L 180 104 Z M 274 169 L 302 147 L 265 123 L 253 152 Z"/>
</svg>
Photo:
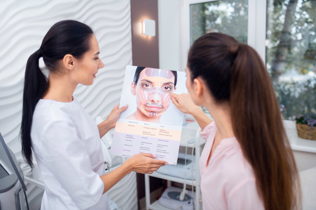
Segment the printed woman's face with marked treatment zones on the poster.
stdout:
<svg viewBox="0 0 316 210">
<path fill-rule="evenodd" d="M 171 104 L 169 93 L 174 89 L 172 71 L 145 68 L 136 85 L 137 108 L 146 116 L 161 116 Z"/>
</svg>

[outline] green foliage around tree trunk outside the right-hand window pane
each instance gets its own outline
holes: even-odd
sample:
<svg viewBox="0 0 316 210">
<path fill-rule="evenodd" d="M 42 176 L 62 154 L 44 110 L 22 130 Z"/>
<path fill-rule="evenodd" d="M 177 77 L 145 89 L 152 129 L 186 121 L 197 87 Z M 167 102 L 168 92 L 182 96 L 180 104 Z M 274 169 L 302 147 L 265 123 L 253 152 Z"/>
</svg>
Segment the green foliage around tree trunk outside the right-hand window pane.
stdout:
<svg viewBox="0 0 316 210">
<path fill-rule="evenodd" d="M 276 50 L 282 35 L 285 13 L 289 0 L 268 0 L 266 66 L 271 74 Z M 298 114 L 316 113 L 316 0 L 299 0 L 295 9 L 291 40 L 288 45 L 282 80 L 274 83 L 276 96 L 285 119 L 293 119 Z M 305 81 L 288 81 L 289 72 L 306 75 Z M 295 76 L 294 76 L 295 77 Z"/>
</svg>

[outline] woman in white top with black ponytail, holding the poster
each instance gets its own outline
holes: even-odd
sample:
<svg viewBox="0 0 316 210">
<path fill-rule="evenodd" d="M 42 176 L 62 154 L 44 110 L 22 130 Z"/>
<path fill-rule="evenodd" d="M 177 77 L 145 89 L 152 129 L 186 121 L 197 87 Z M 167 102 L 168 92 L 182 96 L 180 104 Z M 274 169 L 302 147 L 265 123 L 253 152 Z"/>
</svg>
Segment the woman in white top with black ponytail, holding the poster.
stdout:
<svg viewBox="0 0 316 210">
<path fill-rule="evenodd" d="M 39 58 L 50 70 L 48 81 Z M 114 128 L 115 106 L 98 126 L 73 97 L 78 84 L 91 85 L 104 65 L 90 27 L 74 20 L 56 23 L 27 60 L 21 124 L 22 152 L 32 149 L 45 191 L 41 209 L 109 209 L 106 191 L 131 171 L 152 173 L 166 162 L 137 154 L 105 174 L 100 137 Z"/>
</svg>

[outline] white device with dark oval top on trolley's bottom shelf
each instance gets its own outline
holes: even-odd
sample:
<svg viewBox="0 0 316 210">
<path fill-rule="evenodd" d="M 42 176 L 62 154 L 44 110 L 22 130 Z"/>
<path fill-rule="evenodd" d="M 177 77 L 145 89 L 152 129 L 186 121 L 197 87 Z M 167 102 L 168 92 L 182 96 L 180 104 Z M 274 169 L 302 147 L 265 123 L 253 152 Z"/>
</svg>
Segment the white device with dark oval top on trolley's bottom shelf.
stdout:
<svg viewBox="0 0 316 210">
<path fill-rule="evenodd" d="M 181 188 L 178 187 L 168 187 L 159 198 L 158 202 L 161 206 L 175 209 L 175 210 L 192 210 L 192 192 L 188 191 L 183 201 L 180 201 L 180 194 L 182 192 Z M 195 196 L 194 196 L 195 197 Z"/>
</svg>

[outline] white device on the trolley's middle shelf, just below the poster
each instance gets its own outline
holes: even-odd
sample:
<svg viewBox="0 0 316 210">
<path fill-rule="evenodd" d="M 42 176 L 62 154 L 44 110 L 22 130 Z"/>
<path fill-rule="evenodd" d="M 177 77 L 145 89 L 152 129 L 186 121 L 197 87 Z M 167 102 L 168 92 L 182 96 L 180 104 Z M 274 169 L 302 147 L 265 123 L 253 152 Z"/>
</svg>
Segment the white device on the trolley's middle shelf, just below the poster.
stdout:
<svg viewBox="0 0 316 210">
<path fill-rule="evenodd" d="M 192 177 L 192 167 L 193 167 L 193 177 Z M 169 176 L 193 179 L 195 180 L 195 155 L 186 155 L 186 165 L 185 165 L 185 154 L 179 153 L 177 165 L 168 164 L 164 167 L 160 167 L 157 172 L 166 174 Z"/>
</svg>

